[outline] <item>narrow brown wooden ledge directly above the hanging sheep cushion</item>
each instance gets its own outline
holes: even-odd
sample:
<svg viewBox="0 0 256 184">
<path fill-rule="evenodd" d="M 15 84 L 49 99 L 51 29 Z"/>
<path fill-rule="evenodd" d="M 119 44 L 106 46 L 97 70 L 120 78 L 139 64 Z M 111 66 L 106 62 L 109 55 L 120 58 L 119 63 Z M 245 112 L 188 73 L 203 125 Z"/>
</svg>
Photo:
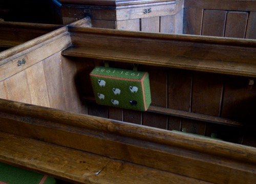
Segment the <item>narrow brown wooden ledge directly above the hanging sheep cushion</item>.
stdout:
<svg viewBox="0 0 256 184">
<path fill-rule="evenodd" d="M 61 52 L 63 56 L 104 59 L 144 65 L 181 68 L 218 74 L 256 77 L 256 64 L 211 59 L 188 58 L 167 54 L 129 52 L 123 50 L 90 47 L 69 47 Z"/>
</svg>

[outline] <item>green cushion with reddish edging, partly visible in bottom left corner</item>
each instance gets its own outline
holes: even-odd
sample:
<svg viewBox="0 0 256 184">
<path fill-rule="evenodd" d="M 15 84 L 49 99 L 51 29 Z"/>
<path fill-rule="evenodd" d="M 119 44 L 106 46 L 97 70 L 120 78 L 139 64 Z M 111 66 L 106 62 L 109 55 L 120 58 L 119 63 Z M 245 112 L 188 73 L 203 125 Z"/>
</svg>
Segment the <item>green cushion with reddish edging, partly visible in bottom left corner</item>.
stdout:
<svg viewBox="0 0 256 184">
<path fill-rule="evenodd" d="M 53 177 L 0 163 L 0 183 L 8 184 L 53 184 Z"/>
</svg>

